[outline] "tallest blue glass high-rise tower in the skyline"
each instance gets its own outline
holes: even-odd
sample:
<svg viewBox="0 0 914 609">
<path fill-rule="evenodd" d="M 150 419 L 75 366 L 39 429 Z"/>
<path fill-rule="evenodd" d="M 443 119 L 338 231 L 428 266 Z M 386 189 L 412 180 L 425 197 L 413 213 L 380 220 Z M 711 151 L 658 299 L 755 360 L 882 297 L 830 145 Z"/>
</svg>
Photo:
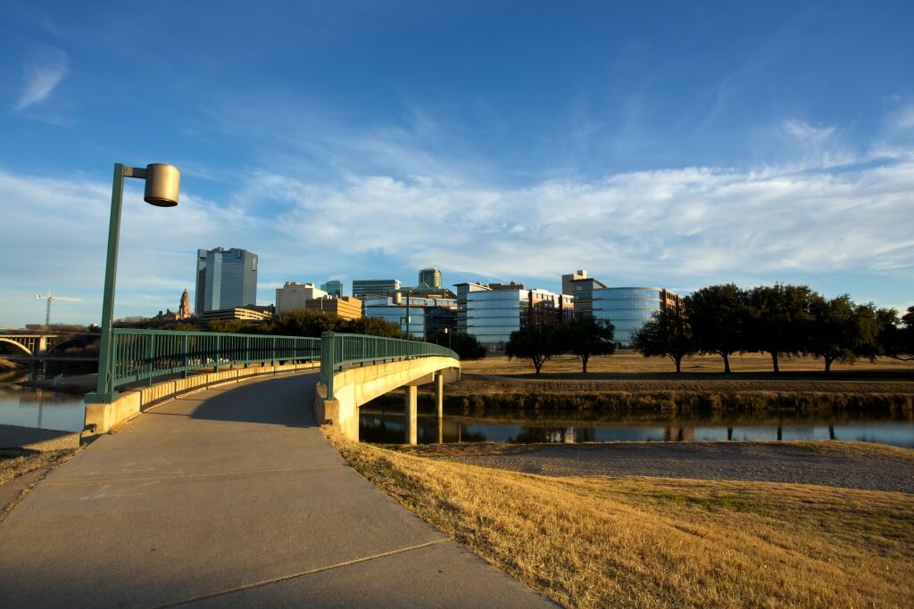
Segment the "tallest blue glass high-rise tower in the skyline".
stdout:
<svg viewBox="0 0 914 609">
<path fill-rule="evenodd" d="M 197 250 L 197 315 L 257 304 L 257 254 L 245 249 Z"/>
</svg>

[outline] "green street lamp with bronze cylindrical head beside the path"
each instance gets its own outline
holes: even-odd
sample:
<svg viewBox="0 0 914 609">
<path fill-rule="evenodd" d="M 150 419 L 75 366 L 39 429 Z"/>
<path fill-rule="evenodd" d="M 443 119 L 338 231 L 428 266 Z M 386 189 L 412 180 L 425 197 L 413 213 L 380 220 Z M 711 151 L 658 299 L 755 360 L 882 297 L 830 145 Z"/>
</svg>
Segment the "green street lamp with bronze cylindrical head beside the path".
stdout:
<svg viewBox="0 0 914 609">
<path fill-rule="evenodd" d="M 95 392 L 86 394 L 86 402 L 104 404 L 117 397 L 114 391 L 114 352 L 112 349 L 112 313 L 114 312 L 114 283 L 117 278 L 117 251 L 121 240 L 121 207 L 123 179 L 139 178 L 146 181 L 143 200 L 157 207 L 177 205 L 181 172 L 175 165 L 152 163 L 146 168 L 128 167 L 114 163 L 112 184 L 112 215 L 108 225 L 108 257 L 105 259 L 105 291 L 101 299 L 101 346 L 99 348 L 99 380 Z"/>
</svg>

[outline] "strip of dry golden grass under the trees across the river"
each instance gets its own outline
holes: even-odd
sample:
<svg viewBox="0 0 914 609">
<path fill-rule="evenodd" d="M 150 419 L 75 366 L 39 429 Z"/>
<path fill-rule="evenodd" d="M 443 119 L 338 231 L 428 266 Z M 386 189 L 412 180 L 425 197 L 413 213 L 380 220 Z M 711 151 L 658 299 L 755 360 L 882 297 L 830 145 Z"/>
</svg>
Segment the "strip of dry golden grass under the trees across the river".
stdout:
<svg viewBox="0 0 914 609">
<path fill-rule="evenodd" d="M 462 362 L 462 367 L 463 373 L 468 374 L 534 375 L 533 365 L 530 362 L 526 360 L 508 361 L 506 357 L 467 360 Z M 771 373 L 771 357 L 759 353 L 735 354 L 730 357 L 730 367 L 734 373 Z M 812 357 L 781 358 L 780 367 L 782 373 L 819 374 L 824 372 L 824 362 Z M 643 357 L 637 353 L 619 353 L 592 358 L 588 364 L 588 371 L 587 376 L 601 373 L 669 373 L 675 375 L 675 366 L 673 362 L 664 357 Z M 683 373 L 722 374 L 724 362 L 718 355 L 696 355 L 683 360 L 682 371 Z M 853 365 L 834 362 L 832 371 L 839 375 L 846 373 L 912 375 L 914 374 L 914 362 L 901 362 L 890 358 L 881 358 L 873 363 L 856 362 Z M 561 355 L 546 362 L 542 375 L 578 375 L 579 373 L 580 360 L 573 355 Z"/>
</svg>

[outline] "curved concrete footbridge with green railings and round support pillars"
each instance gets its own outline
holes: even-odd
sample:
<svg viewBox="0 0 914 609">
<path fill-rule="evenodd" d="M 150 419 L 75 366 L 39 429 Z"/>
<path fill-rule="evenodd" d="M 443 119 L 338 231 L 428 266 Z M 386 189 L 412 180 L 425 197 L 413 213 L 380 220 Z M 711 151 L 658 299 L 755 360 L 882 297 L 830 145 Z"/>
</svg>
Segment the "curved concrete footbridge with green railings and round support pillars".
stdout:
<svg viewBox="0 0 914 609">
<path fill-rule="evenodd" d="M 405 387 L 406 439 L 415 444 L 417 387 L 436 383 L 441 416 L 443 385 L 460 378 L 461 363 L 455 352 L 436 344 L 361 334 L 324 332 L 317 339 L 116 328 L 110 369 L 99 374 L 121 393 L 112 392 L 101 404 L 87 399 L 86 429 L 104 433 L 150 404 L 212 384 L 318 367 L 314 402 L 303 396 L 303 407 L 313 404 L 319 423 L 358 439 L 358 407 Z"/>
</svg>

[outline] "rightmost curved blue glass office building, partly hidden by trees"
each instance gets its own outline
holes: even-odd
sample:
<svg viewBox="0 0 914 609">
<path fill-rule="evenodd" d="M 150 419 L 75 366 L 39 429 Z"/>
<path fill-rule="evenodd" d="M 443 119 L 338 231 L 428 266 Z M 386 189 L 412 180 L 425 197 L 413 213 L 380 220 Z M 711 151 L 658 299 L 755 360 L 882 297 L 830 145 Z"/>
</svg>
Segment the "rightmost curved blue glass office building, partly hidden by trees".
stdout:
<svg viewBox="0 0 914 609">
<path fill-rule="evenodd" d="M 594 278 L 575 279 L 575 313 L 590 313 L 611 322 L 622 349 L 632 346 L 636 331 L 664 307 L 678 306 L 679 297 L 663 288 L 608 288 Z"/>
</svg>

